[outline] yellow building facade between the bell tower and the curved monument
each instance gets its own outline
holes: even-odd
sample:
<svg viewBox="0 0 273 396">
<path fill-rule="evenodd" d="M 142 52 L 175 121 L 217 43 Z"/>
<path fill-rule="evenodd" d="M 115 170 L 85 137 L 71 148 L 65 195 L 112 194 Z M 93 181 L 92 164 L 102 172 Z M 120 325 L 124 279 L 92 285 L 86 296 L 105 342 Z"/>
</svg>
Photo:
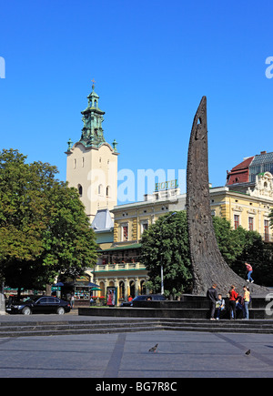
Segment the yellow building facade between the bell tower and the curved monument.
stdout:
<svg viewBox="0 0 273 396">
<path fill-rule="evenodd" d="M 175 185 L 175 184 L 174 184 Z M 131 295 L 146 294 L 147 269 L 140 262 L 140 240 L 143 232 L 169 211 L 185 209 L 186 194 L 179 188 L 170 188 L 146 195 L 141 202 L 116 206 L 114 214 L 114 242 L 103 248 L 94 269 L 94 279 L 99 285 L 100 296 L 107 289 L 116 289 L 116 303 Z"/>
</svg>

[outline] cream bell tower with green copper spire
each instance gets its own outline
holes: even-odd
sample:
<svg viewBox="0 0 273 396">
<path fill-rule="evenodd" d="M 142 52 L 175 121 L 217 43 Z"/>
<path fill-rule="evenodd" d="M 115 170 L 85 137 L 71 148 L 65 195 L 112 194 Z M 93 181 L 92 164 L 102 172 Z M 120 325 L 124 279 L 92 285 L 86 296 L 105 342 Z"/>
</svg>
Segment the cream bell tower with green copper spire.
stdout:
<svg viewBox="0 0 273 396">
<path fill-rule="evenodd" d="M 78 190 L 90 223 L 97 210 L 111 210 L 117 203 L 116 140 L 110 145 L 104 137 L 102 122 L 105 112 L 98 107 L 99 96 L 94 91 L 88 106 L 82 111 L 82 136 L 74 145 L 69 139 L 66 151 L 66 180 Z"/>
</svg>

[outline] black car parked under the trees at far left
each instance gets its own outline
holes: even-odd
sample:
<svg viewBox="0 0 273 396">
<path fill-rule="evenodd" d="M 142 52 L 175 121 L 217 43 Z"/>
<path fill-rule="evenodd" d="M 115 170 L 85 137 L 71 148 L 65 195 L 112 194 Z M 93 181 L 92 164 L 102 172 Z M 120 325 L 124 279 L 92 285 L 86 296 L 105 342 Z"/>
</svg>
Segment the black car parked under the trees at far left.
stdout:
<svg viewBox="0 0 273 396">
<path fill-rule="evenodd" d="M 52 296 L 32 297 L 22 301 L 11 300 L 5 307 L 7 313 L 22 313 L 23 315 L 31 315 L 32 313 L 63 315 L 70 309 L 71 306 L 68 301 Z"/>
</svg>

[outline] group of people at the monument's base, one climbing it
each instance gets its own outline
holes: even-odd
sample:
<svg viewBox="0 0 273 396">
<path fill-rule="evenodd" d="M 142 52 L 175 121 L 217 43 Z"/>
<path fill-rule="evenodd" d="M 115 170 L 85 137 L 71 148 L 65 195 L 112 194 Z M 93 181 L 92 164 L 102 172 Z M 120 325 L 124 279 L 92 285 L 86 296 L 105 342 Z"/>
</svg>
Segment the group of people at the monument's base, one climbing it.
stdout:
<svg viewBox="0 0 273 396">
<path fill-rule="evenodd" d="M 254 280 L 251 278 L 252 267 L 248 263 L 245 263 L 245 265 L 248 270 L 247 281 L 253 283 Z M 234 285 L 230 287 L 227 293 L 230 320 L 236 320 L 237 310 L 242 310 L 244 319 L 249 319 L 248 306 L 251 301 L 250 291 L 248 286 L 244 286 L 243 289 L 243 296 L 239 296 Z M 210 320 L 219 320 L 221 311 L 226 309 L 226 302 L 223 296 L 217 293 L 217 284 L 213 284 L 212 287 L 207 290 L 207 299 L 210 300 Z"/>
</svg>

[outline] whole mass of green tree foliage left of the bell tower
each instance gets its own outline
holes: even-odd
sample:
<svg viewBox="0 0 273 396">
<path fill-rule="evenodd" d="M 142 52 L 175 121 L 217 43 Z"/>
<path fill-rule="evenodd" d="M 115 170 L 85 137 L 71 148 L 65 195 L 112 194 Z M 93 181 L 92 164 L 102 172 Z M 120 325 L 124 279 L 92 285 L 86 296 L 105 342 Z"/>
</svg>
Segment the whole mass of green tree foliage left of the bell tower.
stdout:
<svg viewBox="0 0 273 396">
<path fill-rule="evenodd" d="M 12 287 L 41 287 L 96 264 L 96 243 L 75 188 L 56 167 L 0 153 L 0 276 Z"/>
</svg>

